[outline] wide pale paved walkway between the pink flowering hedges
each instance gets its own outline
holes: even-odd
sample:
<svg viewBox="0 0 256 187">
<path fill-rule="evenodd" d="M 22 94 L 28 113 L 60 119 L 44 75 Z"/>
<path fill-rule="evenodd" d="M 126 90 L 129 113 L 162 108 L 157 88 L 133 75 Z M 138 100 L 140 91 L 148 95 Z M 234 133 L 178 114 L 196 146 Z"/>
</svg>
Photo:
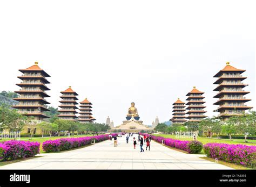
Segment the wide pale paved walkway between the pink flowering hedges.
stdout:
<svg viewBox="0 0 256 187">
<path fill-rule="evenodd" d="M 129 143 L 125 136 L 118 138 L 117 147 L 113 140 L 106 140 L 66 152 L 39 154 L 0 169 L 232 169 L 199 158 L 205 155 L 181 153 L 154 141 L 150 150 L 144 145 L 145 151 L 140 153 L 138 145 L 133 149 L 132 138 Z"/>
</svg>

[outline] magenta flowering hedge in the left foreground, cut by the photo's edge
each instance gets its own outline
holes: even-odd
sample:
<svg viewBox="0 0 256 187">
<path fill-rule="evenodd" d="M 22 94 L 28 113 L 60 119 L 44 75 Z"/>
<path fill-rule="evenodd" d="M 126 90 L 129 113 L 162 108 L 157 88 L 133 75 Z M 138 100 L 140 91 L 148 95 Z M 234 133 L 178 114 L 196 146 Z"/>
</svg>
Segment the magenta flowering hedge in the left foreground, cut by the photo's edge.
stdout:
<svg viewBox="0 0 256 187">
<path fill-rule="evenodd" d="M 10 140 L 0 143 L 0 160 L 16 160 L 39 154 L 39 142 Z"/>
</svg>

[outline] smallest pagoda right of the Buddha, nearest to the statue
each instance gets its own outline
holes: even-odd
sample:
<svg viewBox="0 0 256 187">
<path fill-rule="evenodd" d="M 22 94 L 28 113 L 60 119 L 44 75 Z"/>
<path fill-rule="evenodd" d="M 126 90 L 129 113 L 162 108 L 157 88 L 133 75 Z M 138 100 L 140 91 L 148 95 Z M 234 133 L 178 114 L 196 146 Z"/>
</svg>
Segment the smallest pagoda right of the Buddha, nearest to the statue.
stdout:
<svg viewBox="0 0 256 187">
<path fill-rule="evenodd" d="M 173 117 L 170 119 L 172 123 L 184 124 L 187 120 L 185 119 L 185 103 L 179 98 L 172 104 L 173 105 Z"/>
</svg>

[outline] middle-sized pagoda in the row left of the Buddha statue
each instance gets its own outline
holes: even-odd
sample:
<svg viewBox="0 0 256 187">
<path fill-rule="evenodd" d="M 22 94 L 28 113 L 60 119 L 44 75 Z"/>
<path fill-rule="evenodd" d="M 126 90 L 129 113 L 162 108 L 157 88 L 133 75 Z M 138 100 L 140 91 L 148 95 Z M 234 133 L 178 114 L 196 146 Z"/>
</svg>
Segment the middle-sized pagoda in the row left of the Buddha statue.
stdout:
<svg viewBox="0 0 256 187">
<path fill-rule="evenodd" d="M 73 91 L 71 87 L 69 87 L 65 91 L 61 91 L 60 93 L 62 93 L 62 96 L 60 96 L 62 100 L 60 100 L 59 103 L 62 104 L 58 106 L 60 107 L 60 110 L 58 110 L 58 117 L 60 119 L 76 121 L 76 109 L 78 109 L 76 106 L 78 104 L 76 102 L 76 100 L 78 100 L 76 96 L 78 96 L 78 94 L 75 91 Z"/>
</svg>

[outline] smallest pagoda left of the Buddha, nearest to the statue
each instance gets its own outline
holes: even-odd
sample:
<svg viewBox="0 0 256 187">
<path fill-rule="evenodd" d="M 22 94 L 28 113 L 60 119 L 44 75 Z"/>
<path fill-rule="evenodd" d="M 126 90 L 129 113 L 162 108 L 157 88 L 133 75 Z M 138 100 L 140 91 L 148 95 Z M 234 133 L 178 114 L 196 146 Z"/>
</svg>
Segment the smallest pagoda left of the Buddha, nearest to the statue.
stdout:
<svg viewBox="0 0 256 187">
<path fill-rule="evenodd" d="M 78 121 L 80 123 L 92 123 L 92 121 L 96 120 L 95 118 L 93 118 L 91 115 L 91 108 L 92 108 L 92 103 L 89 102 L 89 100 L 87 100 L 87 98 L 85 98 L 82 102 L 80 102 L 80 109 L 79 109 L 79 119 Z"/>
</svg>

